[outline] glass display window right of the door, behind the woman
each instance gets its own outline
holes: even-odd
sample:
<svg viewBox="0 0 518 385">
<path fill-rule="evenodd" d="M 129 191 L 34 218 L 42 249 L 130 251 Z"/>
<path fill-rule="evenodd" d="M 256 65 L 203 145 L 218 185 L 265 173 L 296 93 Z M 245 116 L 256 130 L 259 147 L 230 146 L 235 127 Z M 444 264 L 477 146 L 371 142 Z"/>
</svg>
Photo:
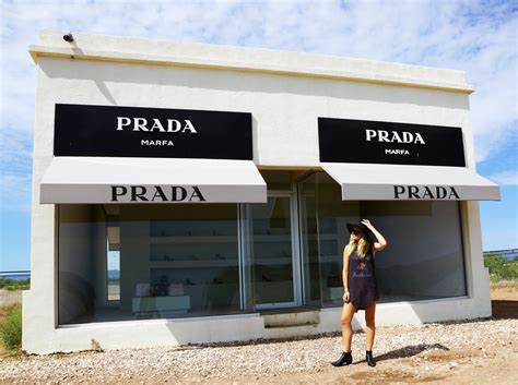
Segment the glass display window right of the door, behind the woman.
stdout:
<svg viewBox="0 0 518 385">
<path fill-rule="evenodd" d="M 301 182 L 298 194 L 307 303 L 343 303 L 346 224 L 362 218 L 368 218 L 389 243 L 376 256 L 379 302 L 466 296 L 457 202 L 342 201 L 340 185 L 325 172 Z"/>
</svg>

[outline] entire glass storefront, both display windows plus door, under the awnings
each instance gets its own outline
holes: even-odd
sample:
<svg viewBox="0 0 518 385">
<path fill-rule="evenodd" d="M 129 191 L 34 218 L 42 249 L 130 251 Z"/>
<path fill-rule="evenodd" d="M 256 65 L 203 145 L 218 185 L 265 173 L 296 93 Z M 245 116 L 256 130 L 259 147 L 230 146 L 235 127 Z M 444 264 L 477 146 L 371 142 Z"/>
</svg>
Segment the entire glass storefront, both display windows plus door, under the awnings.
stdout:
<svg viewBox="0 0 518 385">
<path fill-rule="evenodd" d="M 379 302 L 466 296 L 457 202 L 342 201 L 326 172 L 302 178 L 263 204 L 60 205 L 59 323 L 340 306 L 362 218 L 389 243 Z"/>
</svg>

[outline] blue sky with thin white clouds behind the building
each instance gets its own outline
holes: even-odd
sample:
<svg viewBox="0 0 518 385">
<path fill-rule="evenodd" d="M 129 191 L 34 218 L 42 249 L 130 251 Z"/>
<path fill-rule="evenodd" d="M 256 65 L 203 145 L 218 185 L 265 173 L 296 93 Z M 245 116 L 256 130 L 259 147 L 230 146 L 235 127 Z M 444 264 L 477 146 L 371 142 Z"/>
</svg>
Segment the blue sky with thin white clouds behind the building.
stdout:
<svg viewBox="0 0 518 385">
<path fill-rule="evenodd" d="M 467 72 L 484 250 L 518 248 L 514 1 L 1 1 L 0 270 L 30 268 L 35 65 L 43 28 L 345 56 Z"/>
</svg>

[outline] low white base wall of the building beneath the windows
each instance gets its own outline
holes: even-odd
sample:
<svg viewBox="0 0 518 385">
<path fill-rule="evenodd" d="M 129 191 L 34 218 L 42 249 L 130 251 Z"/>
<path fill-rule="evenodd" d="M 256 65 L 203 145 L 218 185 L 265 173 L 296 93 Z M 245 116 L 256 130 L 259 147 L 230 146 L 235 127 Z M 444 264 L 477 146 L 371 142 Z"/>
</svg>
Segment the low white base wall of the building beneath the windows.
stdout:
<svg viewBox="0 0 518 385">
<path fill-rule="evenodd" d="M 287 321 L 283 325 L 282 317 L 278 317 L 276 324 L 266 325 L 266 316 L 254 313 L 176 320 L 118 321 L 45 328 L 42 327 L 42 320 L 31 314 L 32 310 L 38 308 L 32 303 L 35 300 L 37 297 L 32 296 L 31 291 L 24 292 L 23 349 L 30 353 L 89 350 L 92 349 L 93 341 L 98 342 L 103 349 L 175 347 L 187 344 L 292 338 L 341 329 L 341 308 L 310 312 L 317 313 L 317 316 L 290 312 L 292 315 L 286 318 L 306 320 L 307 324 L 301 322 L 293 324 Z M 478 300 L 458 297 L 379 303 L 376 310 L 376 325 L 378 327 L 416 325 L 488 316 L 491 316 L 491 300 L 487 293 L 484 299 L 479 297 Z M 365 329 L 363 311 L 354 315 L 353 329 Z"/>
</svg>

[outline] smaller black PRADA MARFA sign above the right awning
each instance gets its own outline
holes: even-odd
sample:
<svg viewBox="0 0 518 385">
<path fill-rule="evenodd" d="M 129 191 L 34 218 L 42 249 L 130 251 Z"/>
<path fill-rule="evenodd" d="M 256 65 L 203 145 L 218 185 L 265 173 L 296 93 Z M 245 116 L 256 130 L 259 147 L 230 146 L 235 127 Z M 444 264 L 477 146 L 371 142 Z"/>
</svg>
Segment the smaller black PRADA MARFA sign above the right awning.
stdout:
<svg viewBox="0 0 518 385">
<path fill-rule="evenodd" d="M 454 127 L 318 118 L 320 161 L 466 167 Z"/>
</svg>

